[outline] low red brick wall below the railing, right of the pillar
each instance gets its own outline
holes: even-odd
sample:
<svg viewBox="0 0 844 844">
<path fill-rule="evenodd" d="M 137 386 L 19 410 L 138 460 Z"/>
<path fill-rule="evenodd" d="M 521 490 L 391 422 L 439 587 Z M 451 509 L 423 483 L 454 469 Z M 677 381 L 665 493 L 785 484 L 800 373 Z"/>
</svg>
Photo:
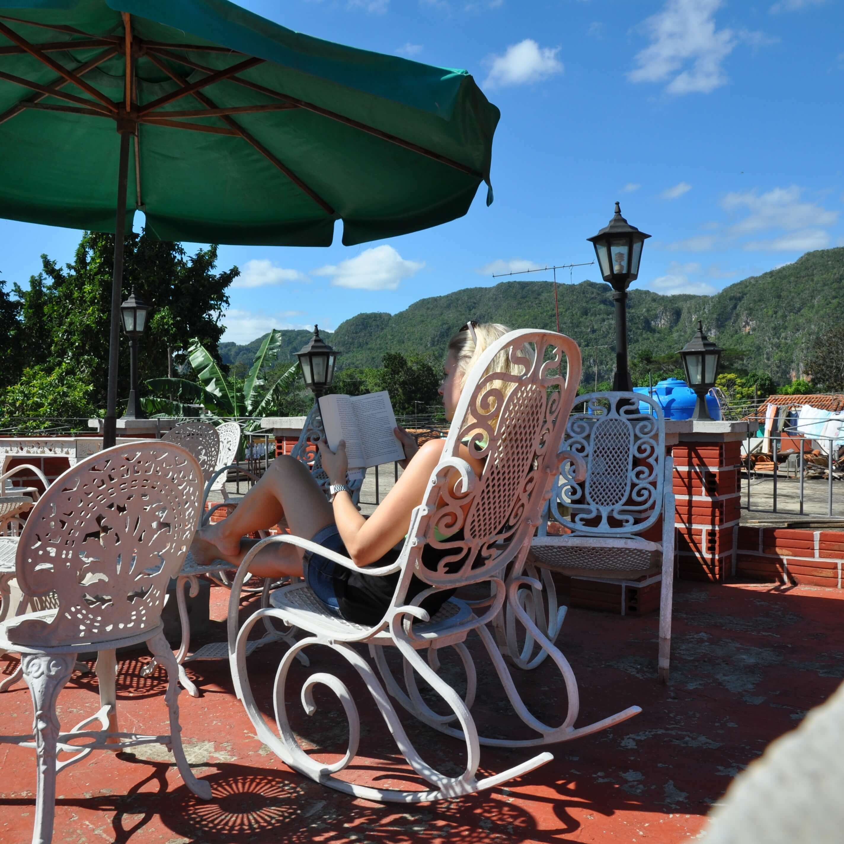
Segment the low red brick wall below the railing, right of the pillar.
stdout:
<svg viewBox="0 0 844 844">
<path fill-rule="evenodd" d="M 737 577 L 840 589 L 842 564 L 844 531 L 738 528 Z"/>
</svg>

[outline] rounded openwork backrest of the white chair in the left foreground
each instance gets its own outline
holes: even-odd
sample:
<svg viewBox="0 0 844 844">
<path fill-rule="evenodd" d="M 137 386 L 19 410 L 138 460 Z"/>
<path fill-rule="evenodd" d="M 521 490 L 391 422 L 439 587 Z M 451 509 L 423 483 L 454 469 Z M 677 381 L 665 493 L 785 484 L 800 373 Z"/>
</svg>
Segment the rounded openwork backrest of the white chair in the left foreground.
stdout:
<svg viewBox="0 0 844 844">
<path fill-rule="evenodd" d="M 51 484 L 21 533 L 24 594 L 55 590 L 53 619 L 7 630 L 20 645 L 95 645 L 160 623 L 167 584 L 196 533 L 202 473 L 181 446 L 138 441 L 86 458 Z"/>
</svg>

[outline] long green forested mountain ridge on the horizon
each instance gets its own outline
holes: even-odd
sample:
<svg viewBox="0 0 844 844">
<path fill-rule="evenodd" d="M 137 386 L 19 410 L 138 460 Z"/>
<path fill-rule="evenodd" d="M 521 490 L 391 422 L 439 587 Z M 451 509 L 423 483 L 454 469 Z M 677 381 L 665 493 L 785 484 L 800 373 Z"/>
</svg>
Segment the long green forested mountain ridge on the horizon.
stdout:
<svg viewBox="0 0 844 844">
<path fill-rule="evenodd" d="M 609 284 L 559 284 L 560 330 L 581 346 L 584 369 L 597 357 L 601 377 L 612 370 L 614 305 Z M 780 268 L 731 284 L 712 296 L 659 295 L 630 290 L 627 324 L 630 354 L 680 349 L 701 320 L 709 336 L 748 370 L 777 382 L 798 376 L 809 346 L 844 315 L 844 248 L 807 252 Z M 322 333 L 342 353 L 338 368 L 377 366 L 385 352 L 445 353 L 452 334 L 468 319 L 503 322 L 512 328 L 554 328 L 553 284 L 508 281 L 421 299 L 406 311 L 358 314 L 334 333 Z M 285 360 L 306 344 L 305 331 L 284 332 Z M 260 344 L 219 344 L 225 363 L 249 362 Z"/>
</svg>

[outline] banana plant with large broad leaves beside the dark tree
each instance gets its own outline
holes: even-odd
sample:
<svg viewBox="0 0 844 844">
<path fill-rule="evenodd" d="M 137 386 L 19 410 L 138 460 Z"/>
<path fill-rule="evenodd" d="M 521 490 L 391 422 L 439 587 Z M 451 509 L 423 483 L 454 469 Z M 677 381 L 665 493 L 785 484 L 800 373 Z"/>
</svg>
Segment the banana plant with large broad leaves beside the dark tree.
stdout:
<svg viewBox="0 0 844 844">
<path fill-rule="evenodd" d="M 276 398 L 289 392 L 298 381 L 298 364 L 273 369 L 278 360 L 281 346 L 281 332 L 273 328 L 264 338 L 261 348 L 252 361 L 252 368 L 244 378 L 225 376 L 214 357 L 198 340 L 192 340 L 188 349 L 197 381 L 186 378 L 151 378 L 147 387 L 158 392 L 159 398 L 141 398 L 141 405 L 147 413 L 168 416 L 197 415 L 197 406 L 215 416 L 267 416 L 277 413 Z M 164 398 L 174 396 L 175 398 Z M 253 422 L 247 430 L 259 423 Z"/>
</svg>

